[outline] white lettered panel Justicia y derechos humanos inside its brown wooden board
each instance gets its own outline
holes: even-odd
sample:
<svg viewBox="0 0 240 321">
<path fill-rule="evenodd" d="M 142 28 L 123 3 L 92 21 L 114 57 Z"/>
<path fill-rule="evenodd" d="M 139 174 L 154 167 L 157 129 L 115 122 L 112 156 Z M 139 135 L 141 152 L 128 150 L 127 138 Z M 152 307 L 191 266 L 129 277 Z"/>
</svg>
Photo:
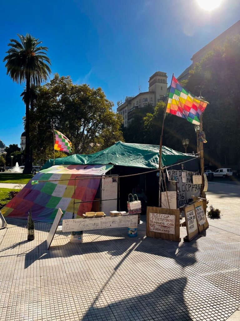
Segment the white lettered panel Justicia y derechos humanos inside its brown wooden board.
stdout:
<svg viewBox="0 0 240 321">
<path fill-rule="evenodd" d="M 149 230 L 157 233 L 175 234 L 175 215 L 149 213 Z"/>
</svg>

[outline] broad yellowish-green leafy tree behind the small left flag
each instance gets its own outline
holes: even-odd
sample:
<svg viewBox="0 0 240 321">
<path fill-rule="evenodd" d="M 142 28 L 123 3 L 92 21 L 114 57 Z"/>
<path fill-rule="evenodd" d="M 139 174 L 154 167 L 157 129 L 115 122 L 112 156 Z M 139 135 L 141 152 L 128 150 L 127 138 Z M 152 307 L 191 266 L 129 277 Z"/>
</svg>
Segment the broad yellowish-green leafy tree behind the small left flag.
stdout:
<svg viewBox="0 0 240 321">
<path fill-rule="evenodd" d="M 44 146 L 53 157 L 53 127 L 68 137 L 74 153 L 95 152 L 123 140 L 122 118 L 112 107 L 101 88 L 74 85 L 69 76 L 55 74 L 39 88 L 31 110 L 35 154 L 40 155 Z M 49 153 L 44 157 L 50 156 Z"/>
</svg>

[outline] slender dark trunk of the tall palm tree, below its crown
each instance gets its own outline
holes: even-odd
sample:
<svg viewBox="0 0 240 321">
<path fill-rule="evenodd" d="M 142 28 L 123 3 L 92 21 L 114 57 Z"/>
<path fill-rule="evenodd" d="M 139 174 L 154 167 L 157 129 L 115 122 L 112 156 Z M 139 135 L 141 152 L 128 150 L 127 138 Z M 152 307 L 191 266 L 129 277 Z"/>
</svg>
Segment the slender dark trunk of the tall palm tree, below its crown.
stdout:
<svg viewBox="0 0 240 321">
<path fill-rule="evenodd" d="M 25 165 L 24 174 L 31 174 L 32 163 L 30 161 L 30 117 L 29 117 L 29 102 L 30 102 L 30 77 L 26 79 L 26 147 L 25 147 Z"/>
</svg>

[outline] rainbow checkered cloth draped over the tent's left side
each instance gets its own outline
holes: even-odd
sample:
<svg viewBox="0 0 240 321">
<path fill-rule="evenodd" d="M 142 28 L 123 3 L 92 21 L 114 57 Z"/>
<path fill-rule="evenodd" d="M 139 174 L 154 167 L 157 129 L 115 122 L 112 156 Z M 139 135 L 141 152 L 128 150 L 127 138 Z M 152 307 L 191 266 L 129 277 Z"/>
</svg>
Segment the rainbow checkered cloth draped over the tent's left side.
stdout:
<svg viewBox="0 0 240 321">
<path fill-rule="evenodd" d="M 104 175 L 113 165 L 56 165 L 37 173 L 32 180 L 40 181 L 31 185 L 31 181 L 1 209 L 4 216 L 27 219 L 30 208 L 35 221 L 52 223 L 58 209 L 64 213 L 63 219 L 71 219 L 74 203 L 74 179 L 76 176 Z M 41 180 L 60 180 L 42 182 Z M 75 213 L 82 216 L 91 211 L 92 201 L 99 187 L 100 178 L 77 179 L 75 202 L 90 201 L 75 204 Z"/>
</svg>

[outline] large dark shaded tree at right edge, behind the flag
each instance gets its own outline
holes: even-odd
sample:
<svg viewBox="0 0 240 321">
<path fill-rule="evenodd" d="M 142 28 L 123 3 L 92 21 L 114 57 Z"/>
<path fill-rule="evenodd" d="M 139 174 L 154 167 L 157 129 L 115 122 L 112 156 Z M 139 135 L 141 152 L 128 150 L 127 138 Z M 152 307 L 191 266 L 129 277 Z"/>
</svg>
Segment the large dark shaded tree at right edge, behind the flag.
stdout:
<svg viewBox="0 0 240 321">
<path fill-rule="evenodd" d="M 186 87 L 209 102 L 203 113 L 207 144 L 204 156 L 211 162 L 240 161 L 240 36 L 229 38 L 208 53 L 191 71 Z"/>
</svg>

